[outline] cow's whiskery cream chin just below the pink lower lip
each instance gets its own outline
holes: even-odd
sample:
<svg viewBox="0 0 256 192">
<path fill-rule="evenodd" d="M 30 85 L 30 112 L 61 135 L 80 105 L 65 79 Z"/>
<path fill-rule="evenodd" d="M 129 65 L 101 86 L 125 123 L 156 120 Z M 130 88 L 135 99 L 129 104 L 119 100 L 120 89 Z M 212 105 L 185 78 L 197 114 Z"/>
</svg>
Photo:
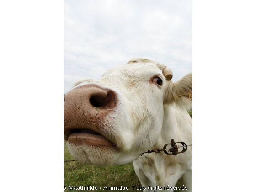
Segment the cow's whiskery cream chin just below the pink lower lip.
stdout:
<svg viewBox="0 0 256 192">
<path fill-rule="evenodd" d="M 114 147 L 99 147 L 80 145 L 76 146 L 69 142 L 66 143 L 70 154 L 83 164 L 93 164 L 97 166 L 115 165 L 118 161 L 118 152 Z"/>
</svg>

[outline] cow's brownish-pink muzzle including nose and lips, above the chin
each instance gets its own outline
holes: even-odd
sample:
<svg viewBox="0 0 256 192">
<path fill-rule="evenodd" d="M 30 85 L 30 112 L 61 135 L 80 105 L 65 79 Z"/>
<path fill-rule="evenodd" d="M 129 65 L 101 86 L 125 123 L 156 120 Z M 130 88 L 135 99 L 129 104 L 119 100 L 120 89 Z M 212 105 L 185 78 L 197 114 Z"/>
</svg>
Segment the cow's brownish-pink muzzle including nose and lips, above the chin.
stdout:
<svg viewBox="0 0 256 192">
<path fill-rule="evenodd" d="M 117 106 L 117 94 L 98 85 L 82 85 L 65 95 L 64 139 L 73 145 L 111 147 L 106 117 Z M 111 128 L 111 127 L 109 127 Z"/>
</svg>

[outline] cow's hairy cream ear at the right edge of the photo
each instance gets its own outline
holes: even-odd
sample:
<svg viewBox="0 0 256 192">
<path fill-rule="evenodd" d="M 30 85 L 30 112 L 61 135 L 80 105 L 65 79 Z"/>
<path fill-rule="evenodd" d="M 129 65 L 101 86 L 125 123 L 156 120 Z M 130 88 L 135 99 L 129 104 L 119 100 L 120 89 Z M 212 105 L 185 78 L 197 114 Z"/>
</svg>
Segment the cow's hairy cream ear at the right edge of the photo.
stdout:
<svg viewBox="0 0 256 192">
<path fill-rule="evenodd" d="M 175 103 L 178 107 L 189 109 L 192 106 L 192 73 L 182 77 L 177 82 L 169 82 L 165 103 Z"/>
</svg>

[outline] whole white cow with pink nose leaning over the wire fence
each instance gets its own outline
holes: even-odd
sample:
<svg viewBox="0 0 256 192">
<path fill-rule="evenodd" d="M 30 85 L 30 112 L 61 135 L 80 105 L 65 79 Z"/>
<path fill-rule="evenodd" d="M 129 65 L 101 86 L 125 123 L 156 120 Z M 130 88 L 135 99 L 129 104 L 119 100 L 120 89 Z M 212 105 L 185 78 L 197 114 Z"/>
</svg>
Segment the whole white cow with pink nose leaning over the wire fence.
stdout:
<svg viewBox="0 0 256 192">
<path fill-rule="evenodd" d="M 192 191 L 191 147 L 176 156 L 141 156 L 171 139 L 192 144 L 192 73 L 175 83 L 172 76 L 163 64 L 135 58 L 99 80 L 76 83 L 64 102 L 64 141 L 71 155 L 97 166 L 133 162 L 144 191 L 175 187 L 179 179 L 182 189 Z"/>
</svg>

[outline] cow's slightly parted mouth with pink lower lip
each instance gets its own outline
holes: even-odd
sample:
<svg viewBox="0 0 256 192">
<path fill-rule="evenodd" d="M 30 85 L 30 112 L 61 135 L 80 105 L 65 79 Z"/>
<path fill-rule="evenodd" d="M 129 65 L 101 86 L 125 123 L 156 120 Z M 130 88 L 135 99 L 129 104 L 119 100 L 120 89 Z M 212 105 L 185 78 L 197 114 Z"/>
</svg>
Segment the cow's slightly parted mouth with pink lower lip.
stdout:
<svg viewBox="0 0 256 192">
<path fill-rule="evenodd" d="M 114 147 L 114 144 L 109 139 L 90 129 L 73 129 L 68 134 L 67 140 L 77 146 Z"/>
</svg>

